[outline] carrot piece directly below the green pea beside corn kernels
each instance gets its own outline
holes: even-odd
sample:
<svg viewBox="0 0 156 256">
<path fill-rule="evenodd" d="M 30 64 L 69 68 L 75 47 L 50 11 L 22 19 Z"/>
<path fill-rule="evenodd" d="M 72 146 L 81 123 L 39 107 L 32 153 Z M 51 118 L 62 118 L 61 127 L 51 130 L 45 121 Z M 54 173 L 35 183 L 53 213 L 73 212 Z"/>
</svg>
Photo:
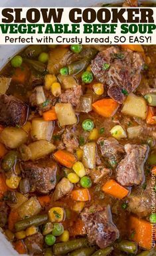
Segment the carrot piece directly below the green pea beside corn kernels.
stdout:
<svg viewBox="0 0 156 256">
<path fill-rule="evenodd" d="M 90 192 L 87 188 L 82 188 L 80 190 L 73 190 L 70 193 L 70 196 L 75 201 L 89 201 L 90 200 Z"/>
</svg>

